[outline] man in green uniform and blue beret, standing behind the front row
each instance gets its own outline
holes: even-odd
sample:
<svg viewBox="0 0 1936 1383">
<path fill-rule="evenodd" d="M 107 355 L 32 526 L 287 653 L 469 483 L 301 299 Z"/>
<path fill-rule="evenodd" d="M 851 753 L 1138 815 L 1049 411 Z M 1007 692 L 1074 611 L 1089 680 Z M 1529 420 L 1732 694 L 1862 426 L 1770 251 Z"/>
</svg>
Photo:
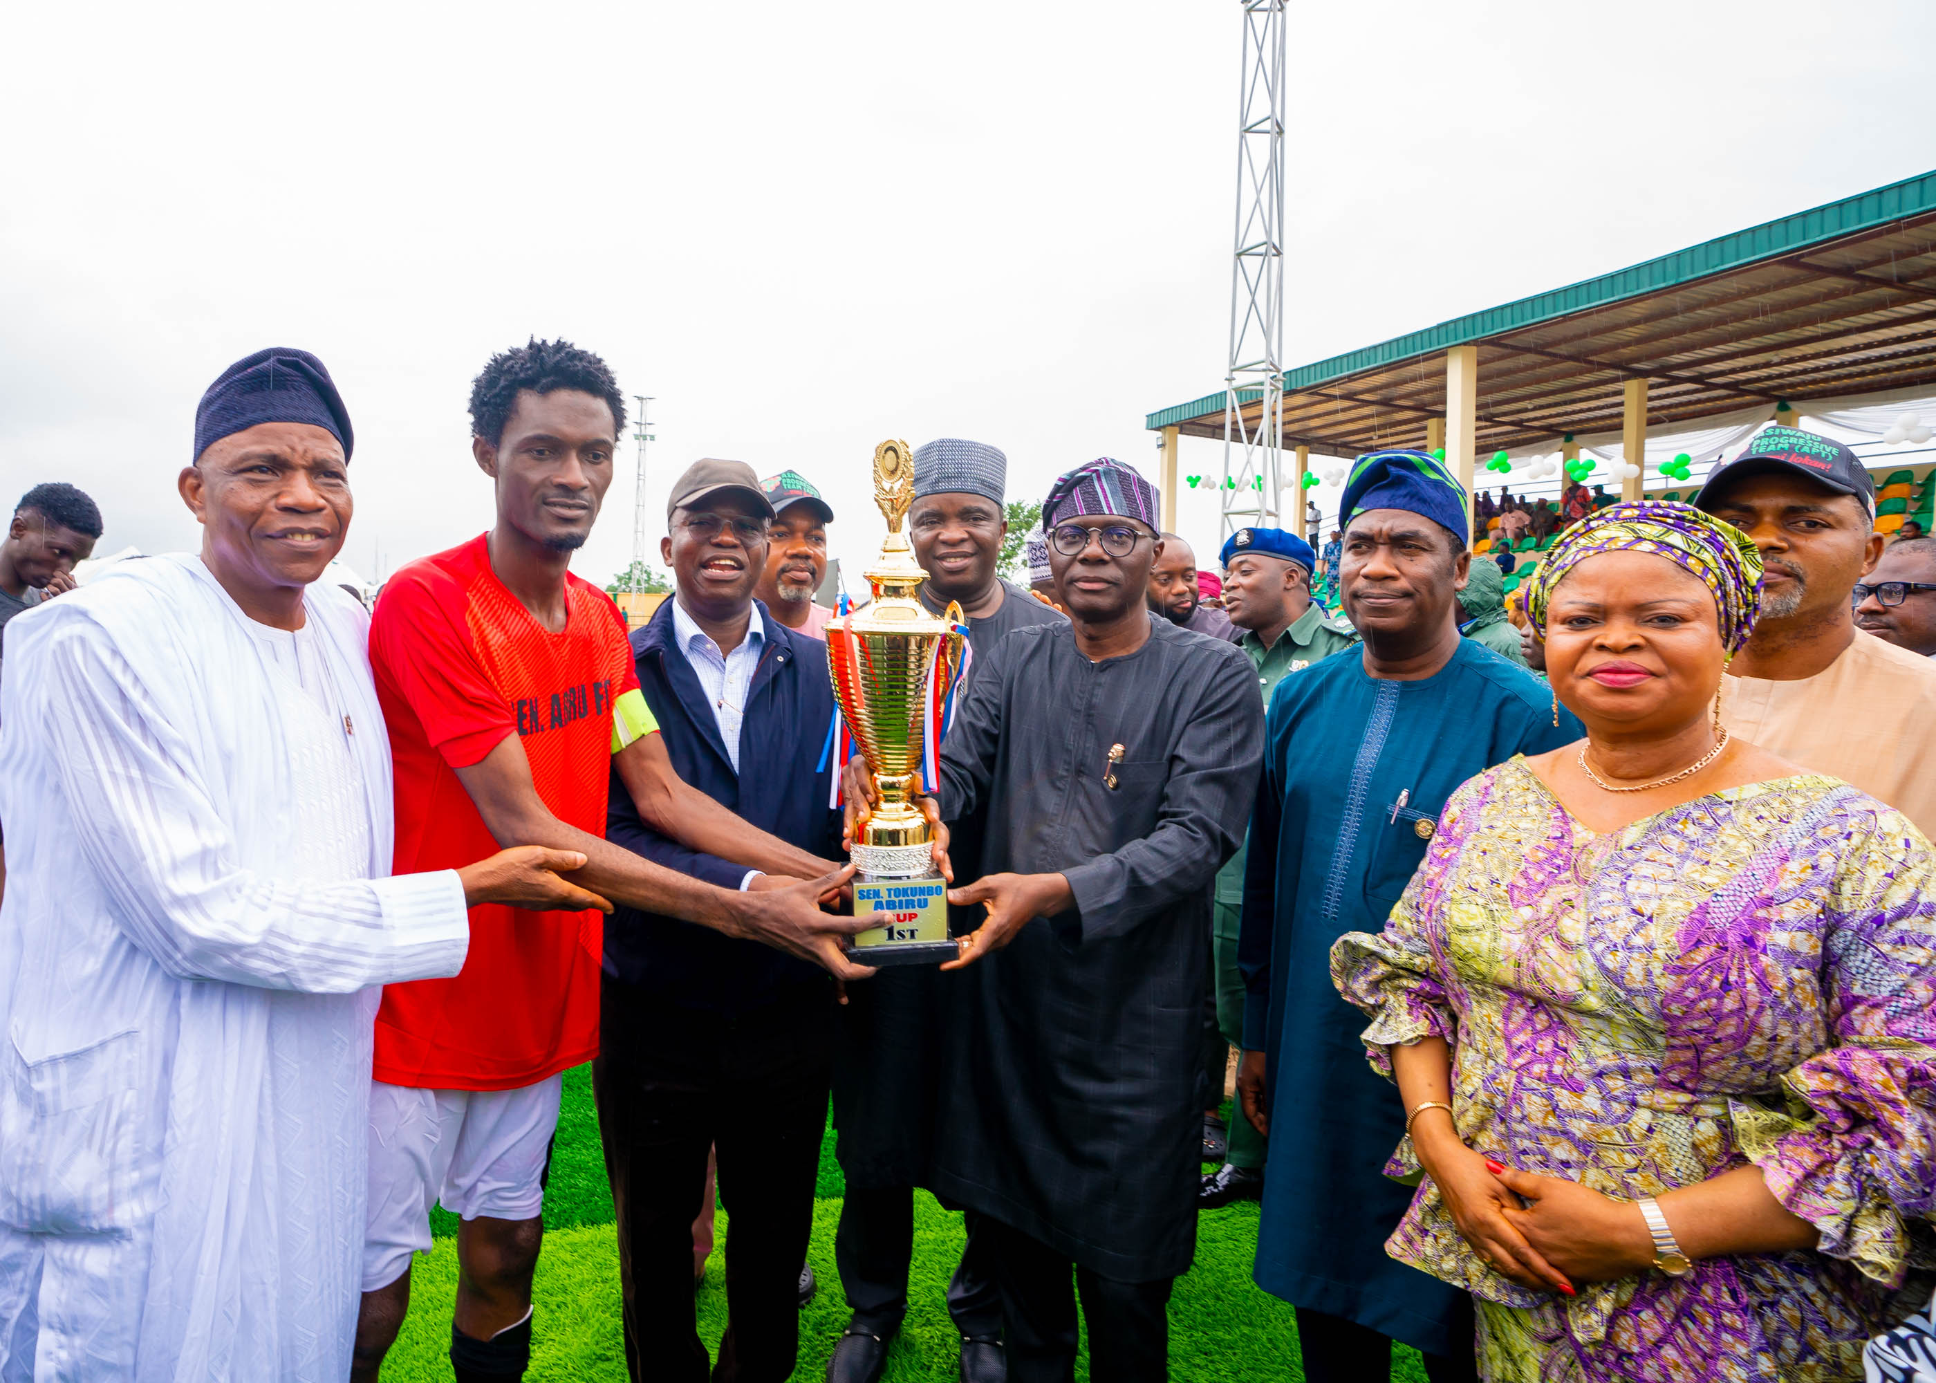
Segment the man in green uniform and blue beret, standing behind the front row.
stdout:
<svg viewBox="0 0 1936 1383">
<path fill-rule="evenodd" d="M 1237 647 L 1256 668 L 1264 705 L 1289 672 L 1301 672 L 1318 659 L 1357 643 L 1357 635 L 1332 620 L 1311 599 L 1311 544 L 1284 529 L 1237 529 L 1224 538 L 1224 612 L 1243 630 Z M 1224 1040 L 1243 1046 L 1243 974 L 1237 970 L 1237 922 L 1243 916 L 1245 848 L 1218 870 L 1212 914 L 1212 978 L 1216 982 L 1216 1023 Z M 1255 1201 L 1264 1191 L 1264 1135 L 1247 1120 L 1229 1123 L 1229 1151 L 1224 1166 L 1202 1180 L 1198 1211 L 1214 1211 L 1231 1201 Z"/>
</svg>

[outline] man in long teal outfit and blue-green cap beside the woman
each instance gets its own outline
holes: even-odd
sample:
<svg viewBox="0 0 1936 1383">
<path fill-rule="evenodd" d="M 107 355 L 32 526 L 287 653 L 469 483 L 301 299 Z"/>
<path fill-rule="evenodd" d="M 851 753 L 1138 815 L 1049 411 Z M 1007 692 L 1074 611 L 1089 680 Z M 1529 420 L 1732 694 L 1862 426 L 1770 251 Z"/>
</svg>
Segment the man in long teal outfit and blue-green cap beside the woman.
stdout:
<svg viewBox="0 0 1936 1383">
<path fill-rule="evenodd" d="M 1524 668 L 1460 637 L 1466 492 L 1423 451 L 1359 457 L 1340 507 L 1361 649 L 1286 676 L 1264 722 L 1237 961 L 1237 1092 L 1270 1133 L 1256 1284 L 1297 1307 L 1307 1383 L 1388 1377 L 1392 1340 L 1433 1383 L 1475 1379 L 1471 1300 L 1396 1263 L 1411 1187 L 1382 1168 L 1404 1110 L 1336 998 L 1330 945 L 1384 926 L 1466 779 L 1580 738 Z"/>
</svg>

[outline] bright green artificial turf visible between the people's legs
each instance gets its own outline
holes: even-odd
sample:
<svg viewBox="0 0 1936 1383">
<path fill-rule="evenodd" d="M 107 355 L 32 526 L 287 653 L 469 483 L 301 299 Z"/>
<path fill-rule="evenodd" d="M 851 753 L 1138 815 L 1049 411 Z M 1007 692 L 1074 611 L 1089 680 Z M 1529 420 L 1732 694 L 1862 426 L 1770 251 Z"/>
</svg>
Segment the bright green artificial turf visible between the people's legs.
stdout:
<svg viewBox="0 0 1936 1383">
<path fill-rule="evenodd" d="M 1227 1110 L 1225 1110 L 1227 1114 Z M 821 1292 L 800 1313 L 802 1383 L 825 1375 L 846 1302 L 834 1271 L 834 1226 L 846 1185 L 834 1162 L 832 1129 L 821 1145 L 821 1176 L 813 1207 L 813 1242 L 807 1261 Z M 699 1288 L 699 1335 L 718 1346 L 726 1329 L 726 1211 L 718 1213 L 707 1280 Z M 538 1259 L 536 1333 L 530 1383 L 623 1383 L 620 1350 L 618 1247 L 612 1242 L 612 1193 L 598 1151 L 598 1118 L 592 1110 L 590 1069 L 565 1075 L 558 1147 L 544 1195 L 544 1253 Z M 416 1259 L 410 1278 L 410 1317 L 389 1352 L 383 1377 L 393 1383 L 447 1383 L 451 1377 L 451 1300 L 457 1292 L 455 1218 L 438 1211 L 436 1247 Z M 949 1321 L 945 1292 L 960 1257 L 960 1216 L 943 1211 L 920 1191 L 914 1203 L 914 1269 L 908 1284 L 908 1319 L 889 1352 L 887 1383 L 954 1379 L 960 1337 Z M 1239 1201 L 1196 1220 L 1196 1263 L 1177 1278 L 1169 1300 L 1169 1375 L 1177 1383 L 1235 1383 L 1284 1379 L 1297 1383 L 1295 1313 L 1251 1282 L 1256 1245 L 1256 1205 Z M 1076 1364 L 1088 1377 L 1088 1358 Z M 1398 1352 L 1394 1379 L 1423 1383 L 1417 1354 Z"/>
</svg>

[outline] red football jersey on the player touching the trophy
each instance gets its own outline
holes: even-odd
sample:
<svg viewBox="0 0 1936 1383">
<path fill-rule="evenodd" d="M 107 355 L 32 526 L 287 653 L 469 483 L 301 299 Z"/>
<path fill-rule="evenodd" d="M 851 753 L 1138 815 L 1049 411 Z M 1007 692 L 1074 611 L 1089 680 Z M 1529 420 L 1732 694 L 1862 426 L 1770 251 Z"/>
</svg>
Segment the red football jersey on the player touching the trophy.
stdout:
<svg viewBox="0 0 1936 1383">
<path fill-rule="evenodd" d="M 383 587 L 370 666 L 397 769 L 397 874 L 498 852 L 455 769 L 507 734 L 521 738 L 552 815 L 604 837 L 612 753 L 656 724 L 612 597 L 567 573 L 565 606 L 563 633 L 538 624 L 490 569 L 482 537 L 412 562 Z M 383 986 L 376 1079 L 507 1091 L 589 1061 L 602 920 L 470 908 L 470 951 L 455 978 Z"/>
</svg>

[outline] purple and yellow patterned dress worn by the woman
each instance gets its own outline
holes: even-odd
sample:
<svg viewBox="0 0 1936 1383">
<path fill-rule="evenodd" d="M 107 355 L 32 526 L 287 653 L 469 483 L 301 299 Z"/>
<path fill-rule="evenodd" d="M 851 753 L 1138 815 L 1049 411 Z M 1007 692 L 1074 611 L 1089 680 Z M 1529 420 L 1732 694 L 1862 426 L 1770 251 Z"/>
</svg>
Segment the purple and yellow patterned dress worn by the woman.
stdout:
<svg viewBox="0 0 1936 1383">
<path fill-rule="evenodd" d="M 1394 1044 L 1452 1044 L 1473 1149 L 1620 1199 L 1752 1162 L 1822 1234 L 1566 1300 L 1487 1269 L 1423 1180 L 1386 1251 L 1475 1296 L 1493 1383 L 1860 1379 L 1862 1340 L 1928 1302 L 1936 856 L 1857 788 L 1775 779 L 1597 835 L 1514 757 L 1446 802 L 1332 978 L 1386 1075 Z M 1386 1174 L 1421 1176 L 1409 1139 Z"/>
</svg>

